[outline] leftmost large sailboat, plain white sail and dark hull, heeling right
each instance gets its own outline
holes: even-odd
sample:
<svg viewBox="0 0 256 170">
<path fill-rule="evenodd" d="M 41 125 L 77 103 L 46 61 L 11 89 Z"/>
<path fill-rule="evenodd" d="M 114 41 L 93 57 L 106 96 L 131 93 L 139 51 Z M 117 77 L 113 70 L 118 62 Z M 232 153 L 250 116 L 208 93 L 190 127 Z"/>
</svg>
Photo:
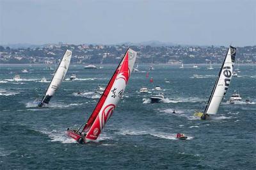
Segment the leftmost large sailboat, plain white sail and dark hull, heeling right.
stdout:
<svg viewBox="0 0 256 170">
<path fill-rule="evenodd" d="M 71 56 L 72 56 L 71 50 L 66 50 L 56 72 L 52 76 L 52 80 L 45 92 L 44 97 L 42 98 L 41 102 L 38 104 L 39 107 L 42 107 L 45 104 L 49 104 L 52 96 L 54 95 L 56 90 L 60 87 L 60 84 L 65 78 L 65 75 L 68 71 L 68 66 L 70 63 Z"/>
</svg>

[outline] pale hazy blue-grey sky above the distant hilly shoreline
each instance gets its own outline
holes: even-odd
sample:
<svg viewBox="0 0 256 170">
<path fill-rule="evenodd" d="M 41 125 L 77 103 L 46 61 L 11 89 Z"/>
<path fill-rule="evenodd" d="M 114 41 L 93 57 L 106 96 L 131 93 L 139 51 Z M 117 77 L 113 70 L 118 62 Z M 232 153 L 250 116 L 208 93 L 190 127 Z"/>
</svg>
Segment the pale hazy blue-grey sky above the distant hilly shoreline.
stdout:
<svg viewBox="0 0 256 170">
<path fill-rule="evenodd" d="M 256 45 L 256 0 L 0 0 L 0 44 Z"/>
</svg>

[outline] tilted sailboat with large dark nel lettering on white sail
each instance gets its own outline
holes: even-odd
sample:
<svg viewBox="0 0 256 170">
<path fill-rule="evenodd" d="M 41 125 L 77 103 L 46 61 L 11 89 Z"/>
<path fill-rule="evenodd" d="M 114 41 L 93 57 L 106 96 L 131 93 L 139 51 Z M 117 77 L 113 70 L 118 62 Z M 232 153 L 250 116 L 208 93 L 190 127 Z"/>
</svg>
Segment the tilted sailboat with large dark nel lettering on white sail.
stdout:
<svg viewBox="0 0 256 170">
<path fill-rule="evenodd" d="M 210 114 L 216 114 L 221 100 L 227 93 L 228 86 L 232 79 L 234 62 L 236 59 L 236 48 L 230 46 L 225 56 L 220 72 L 212 89 L 211 96 L 207 102 L 204 112 L 195 112 L 195 116 L 199 116 L 202 120 L 208 119 Z"/>
</svg>

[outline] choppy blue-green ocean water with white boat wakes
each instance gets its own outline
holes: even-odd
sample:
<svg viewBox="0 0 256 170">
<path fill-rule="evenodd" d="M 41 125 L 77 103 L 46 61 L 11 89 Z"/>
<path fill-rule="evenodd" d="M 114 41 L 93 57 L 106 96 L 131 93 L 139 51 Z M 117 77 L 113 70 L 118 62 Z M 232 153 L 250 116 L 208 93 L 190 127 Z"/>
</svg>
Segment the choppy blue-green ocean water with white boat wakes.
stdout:
<svg viewBox="0 0 256 170">
<path fill-rule="evenodd" d="M 52 70 L 0 65 L 0 169 L 256 169 L 256 68 L 240 66 L 218 114 L 202 121 L 193 113 L 204 110 L 220 65 L 214 70 L 206 65 L 154 67 L 149 73 L 153 83 L 146 77 L 147 65 L 132 73 L 97 143 L 77 144 L 65 130 L 86 122 L 100 97 L 93 91 L 108 84 L 116 65 L 97 70 L 71 65 L 51 104 L 43 108 L 33 102 L 43 97 Z M 22 68 L 29 73 L 21 73 Z M 20 81 L 13 81 L 10 72 L 19 73 Z M 68 80 L 71 74 L 76 81 Z M 42 77 L 48 82 L 40 82 Z M 157 85 L 165 99 L 150 104 L 151 94 L 139 90 Z M 243 102 L 226 104 L 234 90 Z M 178 132 L 188 140 L 175 139 Z"/>
</svg>

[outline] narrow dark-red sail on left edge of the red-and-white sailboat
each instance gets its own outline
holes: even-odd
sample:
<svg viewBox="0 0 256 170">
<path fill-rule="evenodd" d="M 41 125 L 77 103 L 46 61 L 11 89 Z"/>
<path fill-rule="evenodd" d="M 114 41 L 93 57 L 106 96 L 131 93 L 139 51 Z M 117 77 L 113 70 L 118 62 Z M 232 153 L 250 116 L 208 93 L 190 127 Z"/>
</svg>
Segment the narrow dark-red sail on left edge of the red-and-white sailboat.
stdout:
<svg viewBox="0 0 256 170">
<path fill-rule="evenodd" d="M 128 55 L 128 50 L 126 51 L 125 53 L 125 56 Z M 124 56 L 124 58 L 125 58 Z M 95 121 L 95 119 L 97 118 L 99 112 L 100 112 L 100 109 L 102 107 L 102 105 L 104 104 L 106 98 L 108 97 L 108 93 L 116 79 L 116 76 L 120 70 L 120 65 L 122 64 L 122 61 L 124 61 L 124 58 L 121 60 L 121 62 L 119 63 L 119 65 L 117 66 L 116 70 L 115 70 L 115 73 L 113 74 L 112 78 L 110 79 L 109 83 L 108 83 L 108 86 L 106 87 L 105 91 L 103 92 L 103 94 L 101 95 L 100 97 L 100 100 L 98 102 L 98 104 L 96 105 L 95 109 L 93 110 L 90 118 L 88 119 L 86 125 L 84 126 L 83 128 L 83 132 L 88 132 L 88 130 L 92 127 L 93 125 L 93 122 Z"/>
</svg>

